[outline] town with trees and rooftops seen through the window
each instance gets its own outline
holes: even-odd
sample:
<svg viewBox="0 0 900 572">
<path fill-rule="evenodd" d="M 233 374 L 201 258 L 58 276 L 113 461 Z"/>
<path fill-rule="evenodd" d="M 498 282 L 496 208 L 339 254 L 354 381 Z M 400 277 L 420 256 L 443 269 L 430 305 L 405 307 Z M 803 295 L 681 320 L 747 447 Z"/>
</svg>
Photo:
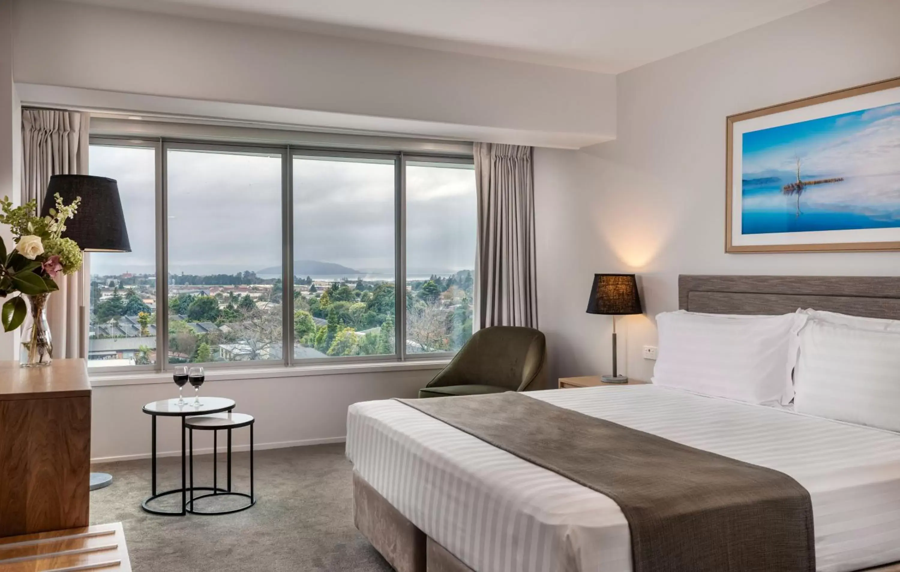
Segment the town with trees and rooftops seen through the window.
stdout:
<svg viewBox="0 0 900 572">
<path fill-rule="evenodd" d="M 157 361 L 152 274 L 91 278 L 91 367 Z M 282 360 L 282 280 L 255 272 L 170 274 L 168 362 Z M 472 336 L 473 273 L 406 283 L 408 353 L 459 349 Z M 393 281 L 296 276 L 293 353 L 298 360 L 395 353 Z"/>
</svg>

